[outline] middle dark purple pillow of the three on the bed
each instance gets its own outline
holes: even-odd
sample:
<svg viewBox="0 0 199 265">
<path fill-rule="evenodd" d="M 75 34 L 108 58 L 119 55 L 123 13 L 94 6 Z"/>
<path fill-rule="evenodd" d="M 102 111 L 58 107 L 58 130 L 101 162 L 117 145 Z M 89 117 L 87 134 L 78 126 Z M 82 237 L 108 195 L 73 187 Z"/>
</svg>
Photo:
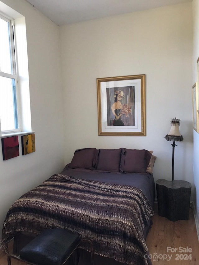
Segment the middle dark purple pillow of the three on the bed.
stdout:
<svg viewBox="0 0 199 265">
<path fill-rule="evenodd" d="M 119 172 L 121 148 L 99 149 L 99 156 L 95 168 L 108 172 Z"/>
</svg>

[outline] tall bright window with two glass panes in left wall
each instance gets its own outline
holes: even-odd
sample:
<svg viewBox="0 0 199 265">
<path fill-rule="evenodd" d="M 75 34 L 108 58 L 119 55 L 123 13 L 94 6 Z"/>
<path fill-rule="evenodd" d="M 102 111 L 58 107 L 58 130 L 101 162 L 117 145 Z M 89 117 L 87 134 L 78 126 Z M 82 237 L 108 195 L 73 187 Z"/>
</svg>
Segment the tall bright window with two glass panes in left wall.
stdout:
<svg viewBox="0 0 199 265">
<path fill-rule="evenodd" d="M 0 15 L 0 129 L 21 131 L 17 89 L 14 21 Z"/>
</svg>

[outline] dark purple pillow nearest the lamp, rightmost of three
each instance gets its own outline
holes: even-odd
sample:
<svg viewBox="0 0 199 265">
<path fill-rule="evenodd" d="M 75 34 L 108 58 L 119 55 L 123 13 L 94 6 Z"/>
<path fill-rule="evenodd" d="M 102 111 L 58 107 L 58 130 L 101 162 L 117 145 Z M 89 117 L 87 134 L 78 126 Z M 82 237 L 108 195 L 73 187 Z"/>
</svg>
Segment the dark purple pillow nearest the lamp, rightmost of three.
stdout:
<svg viewBox="0 0 199 265">
<path fill-rule="evenodd" d="M 151 153 L 149 151 L 122 148 L 120 171 L 127 173 L 146 173 Z"/>
</svg>

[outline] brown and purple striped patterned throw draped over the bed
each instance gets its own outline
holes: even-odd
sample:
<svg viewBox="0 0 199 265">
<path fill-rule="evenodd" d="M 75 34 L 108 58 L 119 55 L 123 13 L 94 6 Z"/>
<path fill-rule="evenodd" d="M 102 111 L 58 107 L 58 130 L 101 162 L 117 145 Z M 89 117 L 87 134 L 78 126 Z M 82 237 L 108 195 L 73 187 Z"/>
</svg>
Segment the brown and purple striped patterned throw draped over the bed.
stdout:
<svg viewBox="0 0 199 265">
<path fill-rule="evenodd" d="M 95 254 L 127 264 L 147 264 L 143 230 L 153 214 L 138 188 L 53 175 L 9 209 L 2 248 L 7 254 L 7 241 L 15 231 L 39 234 L 60 227 L 90 238 Z M 81 248 L 89 250 L 89 245 Z"/>
</svg>

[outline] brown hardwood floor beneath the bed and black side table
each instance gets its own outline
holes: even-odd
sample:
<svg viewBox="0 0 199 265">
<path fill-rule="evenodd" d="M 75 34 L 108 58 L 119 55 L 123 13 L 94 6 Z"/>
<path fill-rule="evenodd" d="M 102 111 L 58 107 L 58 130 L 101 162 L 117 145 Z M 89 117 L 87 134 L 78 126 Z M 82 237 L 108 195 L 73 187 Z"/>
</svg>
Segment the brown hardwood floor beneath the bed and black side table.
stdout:
<svg viewBox="0 0 199 265">
<path fill-rule="evenodd" d="M 152 256 L 151 261 L 153 265 L 199 264 L 199 242 L 192 209 L 190 209 L 188 221 L 179 220 L 177 222 L 171 222 L 167 218 L 158 215 L 157 204 L 155 204 L 155 215 L 152 217 L 152 220 L 153 225 L 147 236 L 146 243 L 149 248 L 149 253 Z M 171 251 L 167 252 L 167 247 L 177 248 L 177 250 L 173 253 Z M 191 252 L 181 253 L 180 247 L 188 247 Z M 12 249 L 12 242 L 9 243 L 9 248 Z M 179 258 L 179 260 L 176 258 Z M 12 265 L 25 264 L 12 259 Z M 0 265 L 7 265 L 7 257 L 2 251 L 0 251 Z"/>
</svg>

